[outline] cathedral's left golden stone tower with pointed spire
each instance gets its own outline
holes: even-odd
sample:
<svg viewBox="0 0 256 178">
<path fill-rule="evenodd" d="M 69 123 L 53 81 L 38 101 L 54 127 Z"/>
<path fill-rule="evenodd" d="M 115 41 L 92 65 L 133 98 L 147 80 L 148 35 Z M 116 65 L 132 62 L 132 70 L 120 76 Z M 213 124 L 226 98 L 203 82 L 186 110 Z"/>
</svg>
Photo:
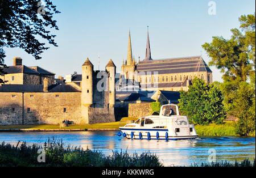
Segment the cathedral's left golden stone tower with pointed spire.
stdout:
<svg viewBox="0 0 256 178">
<path fill-rule="evenodd" d="M 133 58 L 133 52 L 131 50 L 131 33 L 129 31 L 128 39 L 128 50 L 127 50 L 127 59 L 126 62 L 123 62 L 122 71 L 121 71 L 121 81 L 134 80 L 134 72 L 136 70 L 135 58 Z"/>
</svg>

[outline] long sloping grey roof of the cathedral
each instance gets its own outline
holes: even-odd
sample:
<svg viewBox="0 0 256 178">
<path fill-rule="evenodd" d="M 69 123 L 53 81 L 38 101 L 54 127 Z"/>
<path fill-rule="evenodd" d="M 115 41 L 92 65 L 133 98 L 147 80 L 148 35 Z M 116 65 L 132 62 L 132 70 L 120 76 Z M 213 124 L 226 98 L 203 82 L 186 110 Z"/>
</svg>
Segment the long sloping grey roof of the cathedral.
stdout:
<svg viewBox="0 0 256 178">
<path fill-rule="evenodd" d="M 137 71 L 144 71 L 144 73 L 151 71 L 152 74 L 153 72 L 158 72 L 158 74 L 189 73 L 196 71 L 212 72 L 201 56 L 140 61 L 137 65 Z"/>
</svg>

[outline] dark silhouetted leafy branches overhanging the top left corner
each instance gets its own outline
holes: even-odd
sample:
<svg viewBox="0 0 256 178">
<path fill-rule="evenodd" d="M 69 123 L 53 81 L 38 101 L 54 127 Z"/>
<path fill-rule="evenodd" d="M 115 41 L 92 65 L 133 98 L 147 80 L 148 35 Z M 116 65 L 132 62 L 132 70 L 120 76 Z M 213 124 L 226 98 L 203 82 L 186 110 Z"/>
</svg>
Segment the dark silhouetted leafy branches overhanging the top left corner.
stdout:
<svg viewBox="0 0 256 178">
<path fill-rule="evenodd" d="M 53 14 L 60 12 L 51 0 L 44 2 L 46 5 L 41 6 L 38 0 L 0 0 L 0 70 L 1 66 L 6 67 L 5 47 L 22 48 L 39 60 L 40 54 L 49 49 L 45 41 L 57 46 L 54 40 L 56 35 L 52 35 L 49 29 L 59 29 Z"/>
</svg>

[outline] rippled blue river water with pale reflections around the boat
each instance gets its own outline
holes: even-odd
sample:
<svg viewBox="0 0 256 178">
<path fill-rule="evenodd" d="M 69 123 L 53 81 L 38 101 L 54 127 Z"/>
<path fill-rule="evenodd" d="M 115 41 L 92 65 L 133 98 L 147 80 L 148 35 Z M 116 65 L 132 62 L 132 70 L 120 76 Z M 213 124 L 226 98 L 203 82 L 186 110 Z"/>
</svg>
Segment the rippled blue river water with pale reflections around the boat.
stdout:
<svg viewBox="0 0 256 178">
<path fill-rule="evenodd" d="M 0 142 L 43 143 L 49 137 L 61 138 L 65 144 L 88 147 L 112 154 L 112 150 L 128 152 L 154 152 L 165 166 L 190 166 L 208 162 L 211 149 L 216 160 L 243 160 L 255 158 L 254 137 L 201 137 L 178 141 L 131 140 L 117 136 L 118 132 L 0 132 Z"/>
</svg>

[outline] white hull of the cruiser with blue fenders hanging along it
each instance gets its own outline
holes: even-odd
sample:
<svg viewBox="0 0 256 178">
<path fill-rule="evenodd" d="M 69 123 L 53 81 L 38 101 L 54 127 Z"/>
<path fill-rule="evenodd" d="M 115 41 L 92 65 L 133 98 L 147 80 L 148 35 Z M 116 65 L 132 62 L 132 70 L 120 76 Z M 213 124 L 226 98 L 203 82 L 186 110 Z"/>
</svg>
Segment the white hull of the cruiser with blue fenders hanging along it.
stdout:
<svg viewBox="0 0 256 178">
<path fill-rule="evenodd" d="M 187 135 L 177 135 L 174 132 L 170 132 L 168 129 L 127 129 L 119 128 L 121 132 L 128 139 L 195 139 L 198 135 L 187 134 Z M 133 132 L 133 136 L 131 135 Z M 149 133 L 149 134 L 148 134 Z"/>
</svg>

